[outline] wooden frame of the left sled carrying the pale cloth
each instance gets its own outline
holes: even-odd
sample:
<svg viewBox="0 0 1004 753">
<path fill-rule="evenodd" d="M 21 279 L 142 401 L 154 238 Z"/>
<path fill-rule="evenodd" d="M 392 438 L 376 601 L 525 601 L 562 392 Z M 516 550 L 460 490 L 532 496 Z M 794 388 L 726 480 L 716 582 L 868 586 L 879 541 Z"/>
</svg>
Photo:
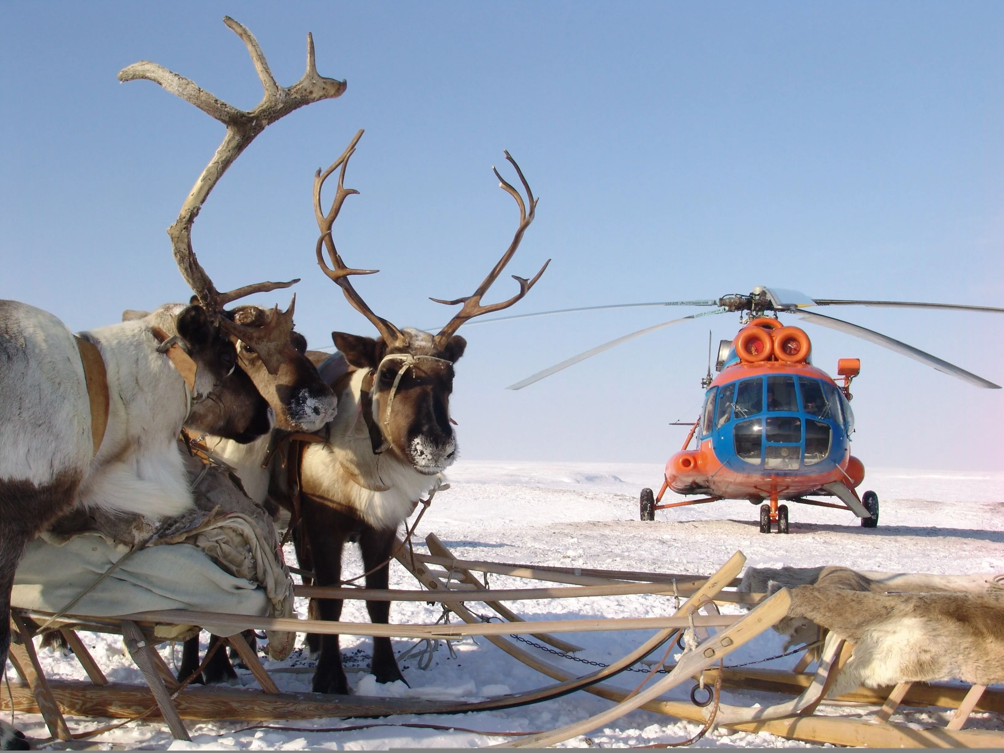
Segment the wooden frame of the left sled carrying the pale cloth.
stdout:
<svg viewBox="0 0 1004 753">
<path fill-rule="evenodd" d="M 443 552 L 448 554 L 446 548 L 434 534 L 430 535 L 428 542 L 431 547 L 442 547 Z M 433 550 L 435 551 L 436 549 Z M 404 557 L 399 557 L 399 559 L 404 560 Z M 423 557 L 423 559 L 436 559 L 436 557 Z M 473 574 L 470 574 L 469 571 L 467 571 L 466 575 L 461 572 L 460 578 L 468 581 L 466 589 L 474 589 L 471 587 L 470 581 L 478 582 L 479 587 L 477 589 L 485 592 L 479 593 L 478 596 L 480 598 L 477 600 L 488 604 L 504 617 L 507 621 L 503 623 L 482 622 L 480 619 L 477 619 L 475 620 L 476 624 L 381 625 L 368 622 L 328 622 L 324 620 L 255 617 L 189 610 L 163 610 L 110 618 L 62 615 L 52 620 L 52 628 L 59 630 L 66 638 L 70 648 L 73 649 L 75 656 L 90 679 L 89 685 L 79 681 L 48 681 L 44 676 L 41 664 L 34 650 L 31 640 L 34 637 L 34 633 L 32 621 L 29 618 L 37 617 L 38 619 L 48 620 L 52 615 L 14 609 L 12 628 L 17 634 L 17 642 L 12 647 L 10 657 L 11 663 L 19 675 L 21 682 L 12 684 L 10 687 L 13 708 L 15 711 L 40 713 L 49 728 L 52 738 L 56 740 L 68 741 L 88 736 L 87 733 L 83 733 L 82 735 L 71 734 L 66 725 L 63 716 L 64 713 L 74 716 L 126 717 L 127 719 L 147 716 L 152 718 L 161 717 L 167 722 L 172 735 L 176 739 L 188 740 L 188 732 L 182 721 L 183 719 L 262 721 L 272 719 L 307 719 L 322 716 L 345 718 L 395 714 L 449 714 L 510 708 L 528 703 L 538 703 L 575 692 L 590 684 L 600 682 L 603 679 L 622 672 L 651 654 L 655 649 L 675 636 L 677 631 L 681 629 L 693 625 L 707 633 L 708 628 L 724 628 L 737 621 L 739 619 L 738 616 L 721 615 L 717 609 L 707 615 L 696 613 L 692 615 L 690 612 L 696 612 L 697 608 L 700 608 L 703 603 L 707 602 L 710 596 L 717 595 L 722 587 L 733 584 L 735 576 L 742 568 L 743 561 L 744 558 L 737 553 L 730 560 L 727 568 L 727 577 L 712 578 L 709 580 L 707 578 L 686 576 L 688 582 L 684 584 L 683 588 L 676 582 L 671 585 L 644 581 L 613 581 L 609 578 L 584 576 L 587 584 L 573 585 L 572 587 L 491 590 L 480 584 L 480 581 L 477 581 L 477 578 Z M 451 564 L 456 565 L 457 560 L 451 558 Z M 477 565 L 480 563 L 471 564 Z M 512 569 L 513 567 L 511 565 L 497 566 L 503 570 Z M 516 569 L 526 570 L 525 573 L 520 573 L 524 577 L 536 577 L 541 574 L 532 567 L 525 568 L 518 565 L 515 567 Z M 434 594 L 429 590 L 370 591 L 365 589 L 304 586 L 298 586 L 297 590 L 302 591 L 298 595 L 304 596 L 380 598 L 387 600 L 438 600 L 449 604 L 453 608 L 464 609 L 466 611 L 466 607 L 463 606 L 458 598 L 460 594 L 457 594 L 458 597 L 454 597 L 451 592 L 456 592 L 458 586 L 460 589 L 465 589 L 464 584 L 451 582 L 452 578 L 457 576 L 458 572 L 444 573 L 447 577 L 445 580 L 441 580 L 433 571 L 426 570 L 422 565 L 419 565 L 417 570 L 424 573 L 424 577 L 420 577 L 420 580 L 427 587 L 431 590 L 439 588 L 441 593 Z M 558 582 L 568 579 L 571 579 L 573 582 L 581 582 L 583 579 L 581 577 L 569 578 L 567 575 L 562 574 L 551 577 L 545 576 L 545 578 Z M 681 610 L 672 616 L 636 619 L 572 619 L 527 623 L 501 603 L 503 600 L 542 597 L 577 598 L 582 596 L 618 595 L 625 593 L 666 595 L 672 594 L 674 591 L 679 593 L 681 590 L 691 593 L 692 596 L 694 594 L 702 596 L 697 599 L 696 607 L 685 608 L 685 607 L 681 607 Z M 470 599 L 470 595 L 464 594 L 464 596 Z M 691 600 L 693 601 L 694 599 L 692 598 Z M 562 651 L 571 652 L 580 651 L 580 649 L 551 634 L 653 629 L 658 629 L 659 633 L 657 633 L 655 638 L 650 639 L 642 647 L 608 668 L 582 678 L 569 677 L 553 686 L 521 694 L 512 694 L 498 700 L 457 703 L 412 699 L 374 699 L 368 697 L 358 699 L 357 697 L 325 697 L 320 694 L 280 693 L 268 672 L 261 665 L 255 652 L 250 649 L 239 633 L 226 639 L 226 642 L 238 652 L 252 675 L 261 685 L 262 690 L 191 688 L 185 689 L 184 693 L 179 693 L 180 684 L 155 649 L 158 643 L 163 643 L 167 640 L 157 638 L 156 629 L 158 625 L 178 626 L 194 624 L 207 624 L 216 628 L 226 626 L 234 630 L 257 629 L 340 635 L 382 635 L 426 640 L 456 640 L 478 635 L 486 636 L 489 640 L 492 640 L 492 638 L 502 635 L 524 633 L 533 635 L 538 640 L 545 641 Z M 77 637 L 76 630 L 121 635 L 130 656 L 143 673 L 147 689 L 141 686 L 109 684 L 97 666 L 97 663 Z M 10 703 L 6 696 L 0 701 L 0 709 L 10 709 Z"/>
</svg>

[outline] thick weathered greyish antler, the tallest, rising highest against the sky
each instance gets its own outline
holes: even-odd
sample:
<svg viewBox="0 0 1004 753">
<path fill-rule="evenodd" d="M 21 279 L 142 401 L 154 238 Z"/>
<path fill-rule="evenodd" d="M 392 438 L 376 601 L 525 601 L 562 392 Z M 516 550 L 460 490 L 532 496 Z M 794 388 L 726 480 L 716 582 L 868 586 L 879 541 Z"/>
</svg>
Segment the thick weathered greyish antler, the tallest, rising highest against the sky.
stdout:
<svg viewBox="0 0 1004 753">
<path fill-rule="evenodd" d="M 269 343 L 274 344 L 282 342 L 284 339 L 288 340 L 289 331 L 292 329 L 295 296 L 285 312 L 280 312 L 276 306 L 272 311 L 269 323 L 264 327 L 234 324 L 222 315 L 223 308 L 228 303 L 246 295 L 289 287 L 299 280 L 258 282 L 226 293 L 219 292 L 209 275 L 206 274 L 206 270 L 199 264 L 195 251 L 192 249 L 192 224 L 199 215 L 199 210 L 206 198 L 227 168 L 240 157 L 258 134 L 280 117 L 304 104 L 339 96 L 345 90 L 346 84 L 345 81 L 318 75 L 314 61 L 313 37 L 307 34 L 306 72 L 292 86 L 288 88 L 279 86 L 272 76 L 265 54 L 258 46 L 258 40 L 254 38 L 254 35 L 229 16 L 224 16 L 223 22 L 247 45 L 251 60 L 258 71 L 258 78 L 261 79 L 265 89 L 262 100 L 254 109 L 250 111 L 238 109 L 201 88 L 194 81 L 149 60 L 141 60 L 122 68 L 118 71 L 118 80 L 135 81 L 143 78 L 159 83 L 172 94 L 194 104 L 227 127 L 227 135 L 223 143 L 195 182 L 195 186 L 182 205 L 178 220 L 168 228 L 168 235 L 171 236 L 175 261 L 178 262 L 182 277 L 199 296 L 202 304 L 218 317 L 221 327 L 252 345 L 262 356 L 268 370 L 273 371 L 277 364 L 274 362 L 275 357 L 268 352 L 273 349 L 269 347 Z"/>
</svg>

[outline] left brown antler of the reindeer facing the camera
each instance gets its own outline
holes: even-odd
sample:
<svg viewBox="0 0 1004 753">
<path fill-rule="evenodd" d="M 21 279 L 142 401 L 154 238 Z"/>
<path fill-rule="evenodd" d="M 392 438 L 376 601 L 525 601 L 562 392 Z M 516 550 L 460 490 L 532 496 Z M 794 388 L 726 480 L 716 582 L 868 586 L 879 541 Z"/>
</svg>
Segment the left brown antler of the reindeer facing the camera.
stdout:
<svg viewBox="0 0 1004 753">
<path fill-rule="evenodd" d="M 345 266 L 345 263 L 341 260 L 341 256 L 338 255 L 337 249 L 334 247 L 334 238 L 331 236 L 331 228 L 334 225 L 334 221 L 338 218 L 338 213 L 341 212 L 341 205 L 345 203 L 347 199 L 352 194 L 358 194 L 359 192 L 355 189 L 346 189 L 344 186 L 345 181 L 345 169 L 348 167 L 348 161 L 351 159 L 352 155 L 355 154 L 355 145 L 358 144 L 359 139 L 362 138 L 363 132 L 360 130 L 349 145 L 345 148 L 345 151 L 341 153 L 341 157 L 335 160 L 331 167 L 321 173 L 318 170 L 314 174 L 314 216 L 317 218 L 317 227 L 320 229 L 320 237 L 317 239 L 317 263 L 320 265 L 321 270 L 326 274 L 345 294 L 345 298 L 351 304 L 352 308 L 358 311 L 360 314 L 365 316 L 372 322 L 372 325 L 376 327 L 376 330 L 381 333 L 384 341 L 388 346 L 393 346 L 405 341 L 406 337 L 402 331 L 392 324 L 387 319 L 378 316 L 373 313 L 372 309 L 366 305 L 366 302 L 362 300 L 355 288 L 352 287 L 352 283 L 348 280 L 348 277 L 353 274 L 374 274 L 379 272 L 379 269 L 349 269 Z M 334 199 L 331 202 L 331 209 L 327 214 L 320 207 L 320 192 L 321 188 L 324 186 L 324 181 L 338 168 L 341 171 L 338 173 L 338 188 L 334 192 Z M 327 256 L 331 260 L 331 266 L 328 266 L 324 261 L 324 256 L 321 253 L 321 247 L 327 248 Z"/>
</svg>

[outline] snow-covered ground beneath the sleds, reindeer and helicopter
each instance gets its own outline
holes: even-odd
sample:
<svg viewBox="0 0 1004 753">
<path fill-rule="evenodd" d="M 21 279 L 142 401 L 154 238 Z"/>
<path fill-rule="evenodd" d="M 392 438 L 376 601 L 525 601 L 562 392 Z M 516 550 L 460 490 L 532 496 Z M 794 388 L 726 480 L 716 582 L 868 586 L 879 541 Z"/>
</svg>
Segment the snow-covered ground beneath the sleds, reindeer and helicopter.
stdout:
<svg viewBox="0 0 1004 753">
<path fill-rule="evenodd" d="M 862 529 L 849 513 L 793 505 L 791 534 L 763 535 L 758 531 L 757 509 L 748 502 L 720 502 L 657 513 L 657 522 L 639 520 L 639 491 L 658 489 L 662 467 L 642 464 L 600 463 L 497 463 L 462 462 L 449 474 L 452 488 L 439 494 L 419 526 L 416 540 L 435 531 L 458 557 L 501 562 L 521 562 L 608 569 L 659 570 L 707 574 L 716 570 L 737 549 L 753 566 L 782 564 L 809 566 L 841 564 L 862 570 L 901 572 L 973 573 L 1004 572 L 1004 473 L 950 473 L 908 470 L 872 470 L 862 489 L 877 492 L 881 522 Z M 359 572 L 356 550 L 350 548 L 348 573 Z M 354 569 L 353 569 L 354 568 Z M 492 587 L 533 585 L 532 581 L 492 576 Z M 397 564 L 392 587 L 415 588 L 414 579 Z M 548 601 L 519 601 L 513 607 L 528 619 L 588 616 L 648 616 L 665 613 L 671 603 L 661 596 L 616 596 Z M 480 609 L 479 609 L 480 607 Z M 472 604 L 476 611 L 488 608 Z M 300 604 L 305 615 L 305 602 Z M 396 603 L 393 622 L 433 622 L 439 607 Z M 346 602 L 343 618 L 365 621 L 361 602 Z M 98 663 L 112 681 L 140 683 L 140 673 L 123 657 L 114 637 L 81 634 Z M 577 656 L 611 662 L 648 637 L 629 633 L 569 634 L 564 636 L 584 648 Z M 204 635 L 205 638 L 205 635 Z M 414 642 L 396 641 L 401 653 Z M 739 664 L 780 653 L 782 640 L 768 632 L 730 655 L 728 664 Z M 442 646 L 428 670 L 414 660 L 403 663 L 411 689 L 376 686 L 363 672 L 349 673 L 349 682 L 363 694 L 410 695 L 433 698 L 474 699 L 519 692 L 551 681 L 509 658 L 484 639 L 454 644 L 455 657 Z M 369 641 L 345 637 L 342 650 L 347 665 L 365 666 Z M 530 649 L 531 651 L 535 651 Z M 162 652 L 171 661 L 170 650 Z M 181 650 L 177 651 L 180 661 Z M 548 655 L 576 674 L 592 667 Z M 284 665 L 304 664 L 296 653 Z M 354 660 L 354 661 L 353 661 Z M 43 652 L 43 663 L 52 678 L 83 679 L 75 659 Z M 790 666 L 793 659 L 775 660 L 762 667 Z M 241 683 L 255 686 L 249 673 Z M 309 674 L 274 675 L 284 690 L 309 690 Z M 640 675 L 624 674 L 615 684 L 634 687 Z M 256 687 L 256 686 L 255 686 Z M 689 685 L 670 694 L 685 699 Z M 768 694 L 726 692 L 723 701 L 751 705 L 776 702 Z M 546 730 L 583 719 L 609 707 L 609 702 L 576 693 L 536 706 L 462 716 L 398 717 L 380 723 L 441 724 L 490 732 Z M 944 723 L 943 712 L 913 712 L 909 721 Z M 1004 729 L 997 715 L 976 714 L 969 726 Z M 376 720 L 368 720 L 374 722 Z M 17 725 L 27 734 L 45 737 L 40 717 L 17 715 Z M 434 731 L 382 727 L 353 732 L 307 732 L 311 727 L 338 727 L 363 720 L 319 719 L 276 725 L 304 731 L 246 730 L 235 723 L 189 723 L 193 742 L 172 741 L 158 724 L 134 723 L 97 738 L 102 747 L 185 749 L 386 749 L 400 747 L 479 747 L 504 737 L 460 731 Z M 71 721 L 74 729 L 94 726 L 90 720 Z M 649 712 L 633 713 L 588 738 L 565 743 L 571 747 L 616 747 L 683 740 L 698 726 L 676 722 Z M 801 747 L 766 733 L 753 735 L 720 730 L 700 746 Z"/>
</svg>

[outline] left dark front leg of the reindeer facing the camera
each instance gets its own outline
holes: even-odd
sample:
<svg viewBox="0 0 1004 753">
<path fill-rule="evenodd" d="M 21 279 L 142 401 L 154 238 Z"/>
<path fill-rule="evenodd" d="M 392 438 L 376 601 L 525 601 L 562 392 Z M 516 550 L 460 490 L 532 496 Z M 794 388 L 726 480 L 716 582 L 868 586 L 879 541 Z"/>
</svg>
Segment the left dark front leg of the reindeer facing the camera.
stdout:
<svg viewBox="0 0 1004 753">
<path fill-rule="evenodd" d="M 341 550 L 347 530 L 354 523 L 346 515 L 324 505 L 303 501 L 303 530 L 310 546 L 310 559 L 316 575 L 315 585 L 335 585 L 341 579 Z M 316 598 L 312 605 L 321 619 L 337 621 L 341 617 L 341 599 Z M 348 695 L 348 680 L 341 666 L 341 647 L 337 636 L 321 636 L 314 693 Z"/>
</svg>

